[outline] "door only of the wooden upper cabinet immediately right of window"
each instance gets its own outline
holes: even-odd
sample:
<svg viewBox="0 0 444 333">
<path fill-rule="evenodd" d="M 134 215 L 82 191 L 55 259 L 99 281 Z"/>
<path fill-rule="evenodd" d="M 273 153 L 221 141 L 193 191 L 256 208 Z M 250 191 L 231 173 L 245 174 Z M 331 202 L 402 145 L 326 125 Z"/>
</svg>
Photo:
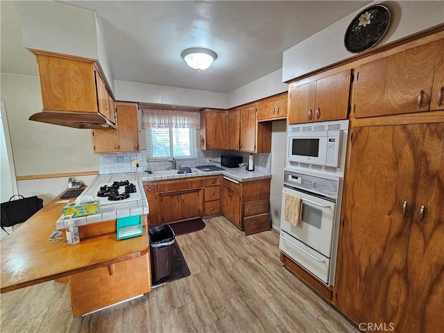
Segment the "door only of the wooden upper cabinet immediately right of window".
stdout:
<svg viewBox="0 0 444 333">
<path fill-rule="evenodd" d="M 227 118 L 225 111 L 206 111 L 205 136 L 205 146 L 207 149 L 227 148 Z"/>
</svg>

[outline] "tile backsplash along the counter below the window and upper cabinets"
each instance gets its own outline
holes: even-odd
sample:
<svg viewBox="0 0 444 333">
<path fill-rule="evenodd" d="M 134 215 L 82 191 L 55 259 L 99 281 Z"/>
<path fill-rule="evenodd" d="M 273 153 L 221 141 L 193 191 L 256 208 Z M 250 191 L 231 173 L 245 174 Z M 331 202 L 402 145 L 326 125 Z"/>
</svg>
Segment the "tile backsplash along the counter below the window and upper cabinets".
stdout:
<svg viewBox="0 0 444 333">
<path fill-rule="evenodd" d="M 241 151 L 202 151 L 197 150 L 197 158 L 188 160 L 176 160 L 177 167 L 194 168 L 199 165 L 220 165 L 221 155 L 239 155 L 243 157 L 243 162 L 248 163 L 248 155 Z M 253 153 L 255 161 L 255 171 L 271 173 L 271 153 Z M 211 157 L 212 162 L 205 162 L 206 157 Z M 139 153 L 117 153 L 117 154 L 100 154 L 99 155 L 99 173 L 125 173 L 135 172 L 136 168 L 131 167 L 131 160 L 140 160 L 140 166 L 137 171 L 145 171 L 148 163 L 152 171 L 171 169 L 171 162 L 168 160 L 147 160 L 146 150 Z"/>
</svg>

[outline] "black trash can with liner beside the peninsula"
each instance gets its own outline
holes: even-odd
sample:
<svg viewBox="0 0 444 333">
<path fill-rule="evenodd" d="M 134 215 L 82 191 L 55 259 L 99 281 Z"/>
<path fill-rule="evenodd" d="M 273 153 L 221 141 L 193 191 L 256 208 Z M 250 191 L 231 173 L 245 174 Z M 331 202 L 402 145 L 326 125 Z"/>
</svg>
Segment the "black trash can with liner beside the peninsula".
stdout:
<svg viewBox="0 0 444 333">
<path fill-rule="evenodd" d="M 148 228 L 153 284 L 173 275 L 173 245 L 176 235 L 168 224 Z"/>
</svg>

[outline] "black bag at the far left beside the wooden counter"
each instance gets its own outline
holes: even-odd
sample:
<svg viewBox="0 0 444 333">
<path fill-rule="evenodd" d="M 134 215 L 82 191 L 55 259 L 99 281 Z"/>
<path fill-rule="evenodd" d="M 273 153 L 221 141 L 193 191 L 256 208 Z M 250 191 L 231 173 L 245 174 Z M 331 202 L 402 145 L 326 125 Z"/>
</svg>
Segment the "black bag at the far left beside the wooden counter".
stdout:
<svg viewBox="0 0 444 333">
<path fill-rule="evenodd" d="M 23 223 L 43 208 L 43 199 L 40 199 L 37 196 L 30 196 L 29 198 L 21 196 L 21 199 L 12 200 L 15 196 L 21 195 L 16 194 L 11 196 L 6 203 L 1 203 L 0 224 L 3 230 L 5 230 L 5 227 L 11 227 L 12 225 Z"/>
</svg>

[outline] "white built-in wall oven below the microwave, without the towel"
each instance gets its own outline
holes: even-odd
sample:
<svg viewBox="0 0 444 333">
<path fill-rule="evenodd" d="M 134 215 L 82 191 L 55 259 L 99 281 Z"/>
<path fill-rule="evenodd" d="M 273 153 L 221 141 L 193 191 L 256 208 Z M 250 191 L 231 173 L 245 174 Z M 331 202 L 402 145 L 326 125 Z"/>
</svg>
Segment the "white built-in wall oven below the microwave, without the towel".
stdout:
<svg viewBox="0 0 444 333">
<path fill-rule="evenodd" d="M 334 282 L 341 189 L 341 177 L 333 180 L 284 171 L 279 248 L 327 285 Z M 287 194 L 300 198 L 297 225 L 285 218 Z"/>
</svg>

